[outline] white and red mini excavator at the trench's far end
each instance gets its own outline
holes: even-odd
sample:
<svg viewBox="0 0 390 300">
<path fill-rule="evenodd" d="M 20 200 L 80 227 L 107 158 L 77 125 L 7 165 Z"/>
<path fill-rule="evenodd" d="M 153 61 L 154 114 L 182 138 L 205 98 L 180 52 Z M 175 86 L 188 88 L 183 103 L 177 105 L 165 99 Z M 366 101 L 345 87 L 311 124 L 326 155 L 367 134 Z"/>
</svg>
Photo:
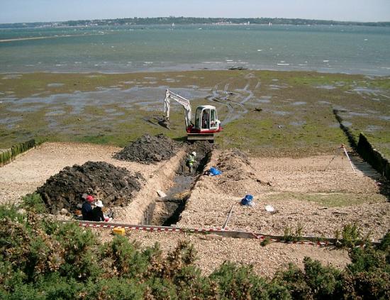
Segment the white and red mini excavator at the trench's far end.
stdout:
<svg viewBox="0 0 390 300">
<path fill-rule="evenodd" d="M 161 122 L 161 125 L 166 128 L 169 128 L 171 100 L 182 104 L 184 108 L 184 122 L 186 124 L 187 140 L 208 140 L 213 143 L 214 133 L 218 133 L 222 130 L 221 121 L 218 120 L 216 107 L 211 105 L 201 105 L 196 107 L 195 123 L 192 123 L 191 104 L 189 103 L 189 100 L 167 89 L 165 91 L 164 99 L 164 116 Z"/>
</svg>

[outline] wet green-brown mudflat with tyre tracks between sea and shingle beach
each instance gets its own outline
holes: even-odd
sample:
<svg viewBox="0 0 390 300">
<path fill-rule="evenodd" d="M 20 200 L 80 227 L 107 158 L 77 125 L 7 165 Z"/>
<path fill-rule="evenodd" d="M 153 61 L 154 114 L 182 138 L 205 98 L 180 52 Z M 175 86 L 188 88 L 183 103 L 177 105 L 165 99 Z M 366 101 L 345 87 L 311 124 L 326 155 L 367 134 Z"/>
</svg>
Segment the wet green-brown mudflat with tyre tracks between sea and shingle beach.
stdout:
<svg viewBox="0 0 390 300">
<path fill-rule="evenodd" d="M 347 139 L 335 120 L 390 155 L 390 79 L 253 70 L 130 74 L 3 74 L 0 145 L 35 138 L 125 146 L 144 133 L 185 135 L 182 107 L 172 130 L 157 124 L 165 89 L 193 106 L 213 104 L 223 121 L 217 143 L 256 155 L 330 153 Z"/>
</svg>

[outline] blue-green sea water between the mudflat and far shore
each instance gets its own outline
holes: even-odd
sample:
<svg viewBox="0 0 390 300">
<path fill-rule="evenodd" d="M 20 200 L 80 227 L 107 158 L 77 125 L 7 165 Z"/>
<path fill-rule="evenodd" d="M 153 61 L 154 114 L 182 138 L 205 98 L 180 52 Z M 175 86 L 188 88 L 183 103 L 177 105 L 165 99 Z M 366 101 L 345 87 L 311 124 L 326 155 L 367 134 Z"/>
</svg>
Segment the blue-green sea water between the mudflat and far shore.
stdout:
<svg viewBox="0 0 390 300">
<path fill-rule="evenodd" d="M 390 28 L 386 27 L 177 25 L 0 29 L 0 40 L 11 40 L 0 42 L 2 73 L 245 67 L 390 74 Z"/>
</svg>

